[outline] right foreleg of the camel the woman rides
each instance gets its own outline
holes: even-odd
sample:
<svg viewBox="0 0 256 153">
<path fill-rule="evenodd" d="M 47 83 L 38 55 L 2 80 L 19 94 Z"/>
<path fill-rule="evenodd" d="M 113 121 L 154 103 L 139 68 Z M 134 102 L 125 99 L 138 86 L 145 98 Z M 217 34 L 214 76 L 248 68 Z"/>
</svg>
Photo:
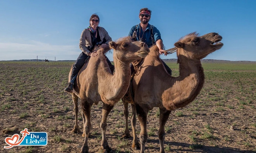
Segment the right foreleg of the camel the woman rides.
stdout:
<svg viewBox="0 0 256 153">
<path fill-rule="evenodd" d="M 112 149 L 109 147 L 109 145 L 107 143 L 107 138 L 106 138 L 107 116 L 109 115 L 109 113 L 113 107 L 114 106 L 103 103 L 102 121 L 100 123 L 101 134 L 102 134 L 101 149 L 103 150 L 103 152 L 107 151 L 108 153 L 111 153 Z"/>
</svg>

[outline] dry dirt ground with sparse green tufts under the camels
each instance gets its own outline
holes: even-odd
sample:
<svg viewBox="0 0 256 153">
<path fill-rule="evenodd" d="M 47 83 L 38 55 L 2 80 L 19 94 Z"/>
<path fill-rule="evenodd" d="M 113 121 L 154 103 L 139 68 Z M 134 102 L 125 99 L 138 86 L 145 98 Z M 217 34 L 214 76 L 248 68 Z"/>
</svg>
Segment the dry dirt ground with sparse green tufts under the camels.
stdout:
<svg viewBox="0 0 256 153">
<path fill-rule="evenodd" d="M 71 95 L 64 92 L 71 63 L 0 62 L 0 152 L 79 153 L 82 133 L 71 133 L 74 111 Z M 173 69 L 173 74 L 178 74 Z M 166 123 L 165 152 L 256 153 L 256 71 L 205 71 L 204 88 L 194 102 L 172 112 Z M 131 113 L 131 108 L 129 108 Z M 92 106 L 89 151 L 99 152 L 102 103 Z M 149 139 L 145 152 L 159 152 L 159 109 L 148 114 Z M 131 116 L 129 117 L 129 119 Z M 83 131 L 81 109 L 79 126 Z M 8 146 L 6 137 L 47 132 L 46 146 Z M 129 123 L 130 133 L 131 124 Z M 137 120 L 137 136 L 140 126 Z M 107 122 L 107 141 L 113 152 L 137 153 L 132 138 L 122 139 L 123 104 L 118 102 Z"/>
</svg>

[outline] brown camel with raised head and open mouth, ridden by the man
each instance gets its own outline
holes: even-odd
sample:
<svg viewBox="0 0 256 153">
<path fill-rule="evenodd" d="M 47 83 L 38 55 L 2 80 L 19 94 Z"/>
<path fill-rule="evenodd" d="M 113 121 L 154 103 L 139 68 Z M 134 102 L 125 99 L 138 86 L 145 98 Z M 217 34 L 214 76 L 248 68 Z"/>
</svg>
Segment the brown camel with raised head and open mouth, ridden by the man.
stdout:
<svg viewBox="0 0 256 153">
<path fill-rule="evenodd" d="M 133 130 L 133 148 L 140 148 L 144 153 L 147 142 L 147 113 L 154 107 L 160 109 L 158 138 L 160 152 L 164 153 L 164 126 L 171 111 L 182 108 L 191 103 L 201 91 L 204 84 L 204 71 L 200 59 L 220 49 L 223 44 L 217 33 L 209 33 L 201 37 L 191 33 L 175 43 L 180 76 L 170 76 L 159 58 L 157 46 L 150 48 L 149 55 L 138 68 L 132 79 L 132 93 L 134 104 L 131 104 L 133 114 L 131 118 Z M 128 124 L 128 103 L 124 102 L 126 125 Z M 140 144 L 135 133 L 136 113 L 140 122 Z M 126 126 L 125 135 L 130 136 Z"/>
</svg>

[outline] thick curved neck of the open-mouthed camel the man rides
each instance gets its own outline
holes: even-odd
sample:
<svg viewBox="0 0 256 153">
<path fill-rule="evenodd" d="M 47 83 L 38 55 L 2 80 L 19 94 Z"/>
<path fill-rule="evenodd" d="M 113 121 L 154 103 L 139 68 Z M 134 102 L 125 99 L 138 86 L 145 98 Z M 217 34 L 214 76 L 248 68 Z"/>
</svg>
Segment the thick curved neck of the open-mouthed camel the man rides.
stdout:
<svg viewBox="0 0 256 153">
<path fill-rule="evenodd" d="M 204 84 L 204 71 L 200 60 L 190 60 L 183 55 L 178 55 L 178 60 L 180 76 L 170 77 L 169 87 L 162 95 L 163 104 L 169 110 L 182 108 L 192 102 Z"/>
</svg>

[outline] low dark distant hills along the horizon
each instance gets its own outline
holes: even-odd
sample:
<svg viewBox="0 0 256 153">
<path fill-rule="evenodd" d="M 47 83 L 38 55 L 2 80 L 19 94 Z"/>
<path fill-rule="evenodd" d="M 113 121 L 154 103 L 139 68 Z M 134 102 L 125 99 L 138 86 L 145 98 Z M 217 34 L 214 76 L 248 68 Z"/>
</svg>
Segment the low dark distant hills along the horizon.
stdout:
<svg viewBox="0 0 256 153">
<path fill-rule="evenodd" d="M 31 62 L 36 62 L 36 59 L 21 59 L 21 60 L 11 60 L 11 61 L 31 61 Z M 56 62 L 74 62 L 75 60 L 59 60 Z M 163 59 L 164 62 L 177 62 L 177 59 Z M 45 62 L 45 60 L 38 59 L 38 62 Z M 54 62 L 50 61 L 49 62 Z M 256 61 L 227 61 L 227 60 L 217 60 L 217 59 L 201 59 L 201 62 L 206 62 L 206 63 L 256 63 Z"/>
</svg>

